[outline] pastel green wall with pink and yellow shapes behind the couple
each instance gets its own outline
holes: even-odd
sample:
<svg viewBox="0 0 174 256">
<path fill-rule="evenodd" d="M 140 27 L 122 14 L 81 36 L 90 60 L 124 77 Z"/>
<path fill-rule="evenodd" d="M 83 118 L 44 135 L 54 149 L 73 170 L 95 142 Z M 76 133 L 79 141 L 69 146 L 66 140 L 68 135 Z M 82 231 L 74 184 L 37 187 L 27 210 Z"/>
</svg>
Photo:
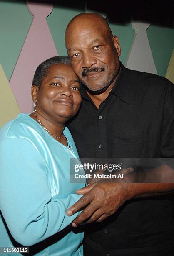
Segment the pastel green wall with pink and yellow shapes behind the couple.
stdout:
<svg viewBox="0 0 174 256">
<path fill-rule="evenodd" d="M 83 10 L 83 6 L 63 8 L 56 5 L 52 10 L 51 4 L 0 2 L 0 62 L 3 67 L 0 69 L 0 101 L 3 102 L 1 107 L 9 104 L 9 108 L 0 110 L 0 126 L 20 111 L 32 111 L 30 87 L 36 67 L 57 53 L 67 55 L 64 45 L 65 28 L 75 15 L 82 12 L 85 12 L 85 6 Z M 122 47 L 120 60 L 127 64 L 127 67 L 134 66 L 133 68 L 138 69 L 141 66 L 140 70 L 162 76 L 165 76 L 167 71 L 170 73 L 168 78 L 172 77 L 174 29 L 149 23 L 149 28 L 144 33 L 144 38 L 149 44 L 142 46 L 142 36 L 137 36 L 131 22 L 122 25 L 109 22 L 109 25 L 113 34 L 119 37 Z M 142 47 L 142 57 L 138 53 L 138 47 L 134 45 L 135 42 Z M 143 57 L 144 48 L 150 53 L 147 61 Z M 144 67 L 139 61 L 144 61 Z M 170 67 L 167 70 L 169 62 Z M 151 66 L 149 63 L 153 68 L 147 70 L 146 68 Z M 10 80 L 11 89 L 5 74 Z M 7 90 L 3 89 L 4 86 Z M 9 102 L 7 99 L 12 100 Z"/>
</svg>

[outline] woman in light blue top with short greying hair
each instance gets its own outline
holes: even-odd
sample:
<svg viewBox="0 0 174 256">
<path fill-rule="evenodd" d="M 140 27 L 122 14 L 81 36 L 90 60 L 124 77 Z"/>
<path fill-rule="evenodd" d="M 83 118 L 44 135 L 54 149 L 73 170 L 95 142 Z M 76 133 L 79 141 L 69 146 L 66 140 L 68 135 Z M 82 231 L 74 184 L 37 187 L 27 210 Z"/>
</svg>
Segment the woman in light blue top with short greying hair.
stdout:
<svg viewBox="0 0 174 256">
<path fill-rule="evenodd" d="M 34 113 L 20 113 L 0 131 L 0 247 L 83 255 L 83 233 L 65 228 L 78 215 L 66 215 L 81 197 L 75 190 L 85 185 L 69 182 L 69 160 L 78 154 L 65 123 L 80 108 L 81 96 L 68 58 L 41 63 L 31 93 Z"/>
</svg>

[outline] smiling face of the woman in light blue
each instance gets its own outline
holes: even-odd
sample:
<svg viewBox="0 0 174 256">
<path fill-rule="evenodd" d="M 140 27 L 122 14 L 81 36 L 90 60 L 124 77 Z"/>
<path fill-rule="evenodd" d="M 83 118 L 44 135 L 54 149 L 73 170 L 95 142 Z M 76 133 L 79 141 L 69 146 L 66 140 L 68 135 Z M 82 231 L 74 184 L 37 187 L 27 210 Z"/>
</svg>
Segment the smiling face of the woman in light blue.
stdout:
<svg viewBox="0 0 174 256">
<path fill-rule="evenodd" d="M 53 120 L 68 120 L 81 103 L 80 84 L 70 65 L 54 64 L 37 90 L 37 110 Z"/>
</svg>

